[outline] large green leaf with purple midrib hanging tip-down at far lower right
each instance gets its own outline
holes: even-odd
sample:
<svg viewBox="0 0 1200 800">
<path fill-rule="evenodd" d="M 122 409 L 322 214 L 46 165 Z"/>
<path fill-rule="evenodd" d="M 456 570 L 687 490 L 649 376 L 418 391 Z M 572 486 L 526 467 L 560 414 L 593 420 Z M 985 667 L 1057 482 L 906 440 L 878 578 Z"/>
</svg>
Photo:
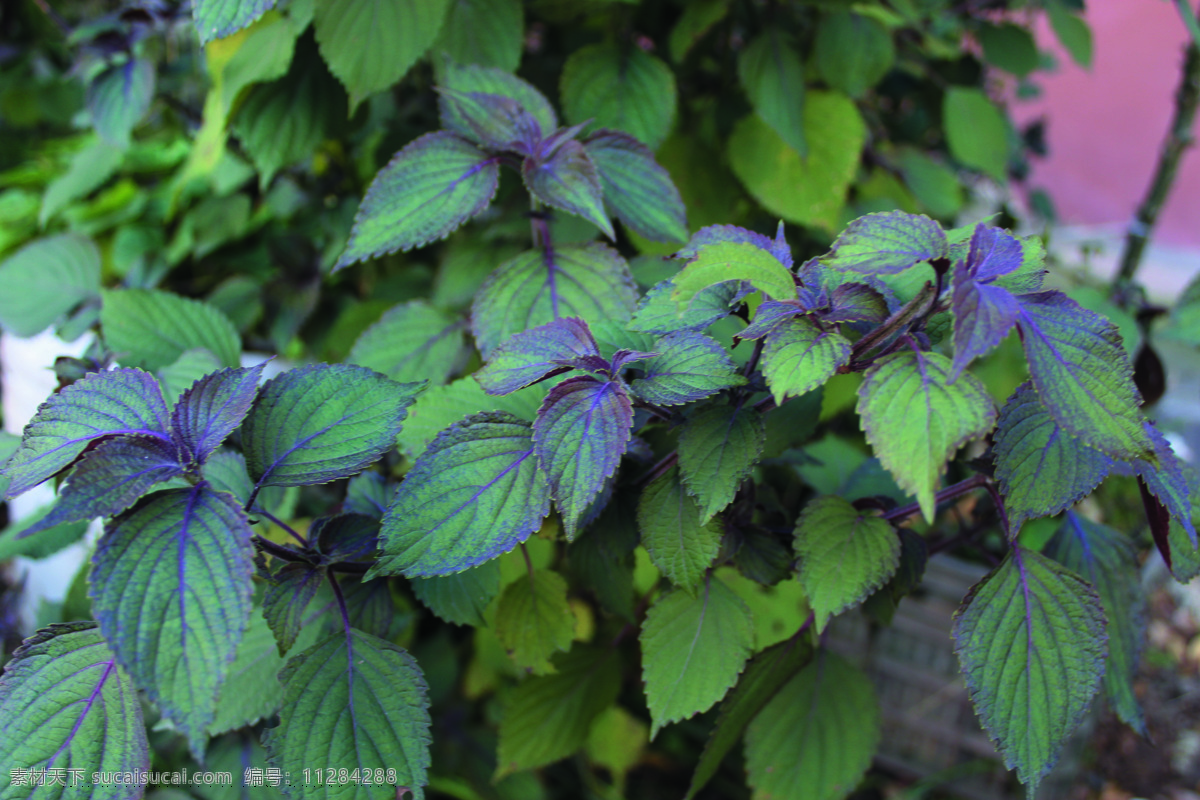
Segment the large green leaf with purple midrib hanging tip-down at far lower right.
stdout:
<svg viewBox="0 0 1200 800">
<path fill-rule="evenodd" d="M 1013 546 L 954 614 L 967 691 L 1030 796 L 1082 721 L 1104 672 L 1104 607 L 1091 587 Z"/>
</svg>

